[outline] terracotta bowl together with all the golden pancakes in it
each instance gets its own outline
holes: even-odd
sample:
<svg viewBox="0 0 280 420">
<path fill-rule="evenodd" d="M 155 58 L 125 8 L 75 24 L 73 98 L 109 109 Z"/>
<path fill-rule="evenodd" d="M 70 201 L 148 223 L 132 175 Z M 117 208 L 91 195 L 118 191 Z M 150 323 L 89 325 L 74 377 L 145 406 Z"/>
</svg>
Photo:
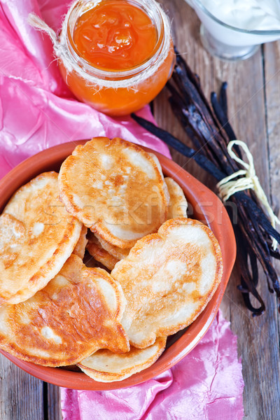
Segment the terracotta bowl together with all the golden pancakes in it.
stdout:
<svg viewBox="0 0 280 420">
<path fill-rule="evenodd" d="M 222 202 L 123 139 L 49 148 L 0 181 L 0 351 L 58 386 L 172 367 L 216 316 L 236 244 Z"/>
</svg>

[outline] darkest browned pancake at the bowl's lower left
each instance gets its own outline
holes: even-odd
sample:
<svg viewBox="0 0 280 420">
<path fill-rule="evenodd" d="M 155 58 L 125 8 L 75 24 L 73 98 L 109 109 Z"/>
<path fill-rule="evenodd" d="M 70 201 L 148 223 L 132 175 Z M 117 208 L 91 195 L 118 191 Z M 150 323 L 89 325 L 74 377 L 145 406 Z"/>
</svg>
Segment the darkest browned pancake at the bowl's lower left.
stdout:
<svg viewBox="0 0 280 420">
<path fill-rule="evenodd" d="M 0 347 L 44 366 L 73 365 L 103 348 L 129 351 L 120 324 L 124 309 L 120 285 L 71 255 L 43 290 L 0 307 Z"/>
</svg>

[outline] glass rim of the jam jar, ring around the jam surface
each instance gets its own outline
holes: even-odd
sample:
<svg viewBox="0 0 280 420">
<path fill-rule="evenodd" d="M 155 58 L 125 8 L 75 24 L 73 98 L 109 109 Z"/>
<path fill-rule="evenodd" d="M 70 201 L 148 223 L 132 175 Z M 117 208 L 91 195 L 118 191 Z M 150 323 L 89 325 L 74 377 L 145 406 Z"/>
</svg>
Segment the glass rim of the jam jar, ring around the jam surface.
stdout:
<svg viewBox="0 0 280 420">
<path fill-rule="evenodd" d="M 125 0 L 127 3 L 134 4 L 138 8 L 141 8 L 141 10 L 144 10 L 155 25 L 158 31 L 158 40 L 155 44 L 153 52 L 151 52 L 151 55 L 149 55 L 149 57 L 147 57 L 143 62 L 130 67 L 129 69 L 107 70 L 90 64 L 80 55 L 78 48 L 76 48 L 73 41 L 73 31 L 76 27 L 78 18 L 80 18 L 80 16 L 87 10 L 91 10 L 102 1 L 106 0 L 78 0 L 73 3 L 66 16 L 66 33 L 64 34 L 66 47 L 71 59 L 76 62 L 80 71 L 85 73 L 85 78 L 86 75 L 108 81 L 133 78 L 134 76 L 139 75 L 139 73 L 143 73 L 143 71 L 153 68 L 156 62 L 158 62 L 161 54 L 165 54 L 167 56 L 171 42 L 171 29 L 169 19 L 167 18 L 167 15 L 165 15 L 165 12 L 162 10 L 160 4 L 155 0 Z M 164 59 L 165 58 L 166 57 L 164 57 Z"/>
</svg>

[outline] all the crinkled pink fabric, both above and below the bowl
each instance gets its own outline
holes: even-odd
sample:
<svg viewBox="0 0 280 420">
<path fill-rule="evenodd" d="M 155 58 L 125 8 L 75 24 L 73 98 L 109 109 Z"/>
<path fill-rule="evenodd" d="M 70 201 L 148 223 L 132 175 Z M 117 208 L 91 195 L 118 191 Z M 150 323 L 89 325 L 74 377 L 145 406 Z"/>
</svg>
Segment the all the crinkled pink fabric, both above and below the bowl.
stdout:
<svg viewBox="0 0 280 420">
<path fill-rule="evenodd" d="M 165 144 L 130 117 L 113 120 L 77 102 L 59 76 L 52 45 L 27 25 L 35 11 L 55 30 L 65 0 L 0 0 L 0 177 L 55 144 L 123 137 L 165 155 Z M 152 118 L 146 107 L 141 116 Z M 243 408 L 236 337 L 221 313 L 200 344 L 171 370 L 118 391 L 62 389 L 64 420 L 239 420 Z"/>
</svg>

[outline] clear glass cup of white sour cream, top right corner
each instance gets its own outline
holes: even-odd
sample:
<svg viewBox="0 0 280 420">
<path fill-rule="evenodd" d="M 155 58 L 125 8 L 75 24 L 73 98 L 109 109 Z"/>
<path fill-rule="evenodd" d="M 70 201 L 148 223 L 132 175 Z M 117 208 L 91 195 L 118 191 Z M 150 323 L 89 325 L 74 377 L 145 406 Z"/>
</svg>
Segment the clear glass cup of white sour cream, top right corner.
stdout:
<svg viewBox="0 0 280 420">
<path fill-rule="evenodd" d="M 222 59 L 251 57 L 261 43 L 280 38 L 278 0 L 186 0 L 202 25 L 204 47 Z"/>
</svg>

